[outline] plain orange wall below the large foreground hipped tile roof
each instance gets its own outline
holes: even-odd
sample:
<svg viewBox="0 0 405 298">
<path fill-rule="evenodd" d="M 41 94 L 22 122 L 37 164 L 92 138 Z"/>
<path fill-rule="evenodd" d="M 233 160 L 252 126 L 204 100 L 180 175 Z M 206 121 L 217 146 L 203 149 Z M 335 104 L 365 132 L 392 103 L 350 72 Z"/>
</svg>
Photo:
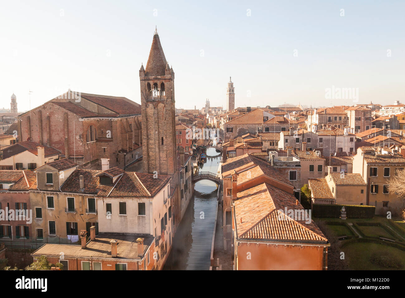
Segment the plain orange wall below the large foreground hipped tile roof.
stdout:
<svg viewBox="0 0 405 298">
<path fill-rule="evenodd" d="M 324 247 L 240 243 L 237 270 L 323 270 Z M 251 259 L 247 259 L 250 252 Z"/>
</svg>

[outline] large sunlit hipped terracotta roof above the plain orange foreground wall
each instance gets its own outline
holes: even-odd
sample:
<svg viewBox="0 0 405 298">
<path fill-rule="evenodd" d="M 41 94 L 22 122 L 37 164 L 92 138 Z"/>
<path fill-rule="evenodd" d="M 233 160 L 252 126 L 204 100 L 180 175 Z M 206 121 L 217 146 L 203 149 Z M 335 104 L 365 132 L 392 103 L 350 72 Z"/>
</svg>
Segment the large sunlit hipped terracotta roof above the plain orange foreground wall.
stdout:
<svg viewBox="0 0 405 298">
<path fill-rule="evenodd" d="M 269 184 L 237 193 L 234 201 L 236 232 L 239 239 L 291 242 L 322 242 L 328 240 L 313 221 L 294 220 L 284 209 L 302 209 L 296 198 Z M 280 220 L 283 219 L 283 220 Z"/>
</svg>

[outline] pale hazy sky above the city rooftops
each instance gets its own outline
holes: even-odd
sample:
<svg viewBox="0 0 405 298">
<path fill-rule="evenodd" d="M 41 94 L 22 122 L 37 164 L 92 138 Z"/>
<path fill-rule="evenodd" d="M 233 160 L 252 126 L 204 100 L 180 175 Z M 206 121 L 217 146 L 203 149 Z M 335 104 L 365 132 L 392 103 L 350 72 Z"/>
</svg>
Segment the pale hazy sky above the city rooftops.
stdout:
<svg viewBox="0 0 405 298">
<path fill-rule="evenodd" d="M 353 104 L 325 99 L 332 86 L 405 102 L 405 4 L 378 2 L 1 0 L 0 108 L 13 92 L 23 111 L 29 90 L 36 107 L 68 88 L 140 103 L 155 25 L 176 107 L 226 108 L 229 76 L 240 107 Z"/>
</svg>

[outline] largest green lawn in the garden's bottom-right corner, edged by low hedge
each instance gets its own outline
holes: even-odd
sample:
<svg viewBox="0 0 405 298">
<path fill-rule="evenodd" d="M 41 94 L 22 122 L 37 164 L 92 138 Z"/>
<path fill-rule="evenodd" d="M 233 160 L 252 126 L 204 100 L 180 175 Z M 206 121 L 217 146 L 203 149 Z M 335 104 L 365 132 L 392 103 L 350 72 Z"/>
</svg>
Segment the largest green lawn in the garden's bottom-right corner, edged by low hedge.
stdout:
<svg viewBox="0 0 405 298">
<path fill-rule="evenodd" d="M 345 258 L 349 260 L 351 270 L 394 270 L 393 268 L 372 264 L 370 257 L 373 253 L 397 257 L 405 266 L 405 251 L 383 244 L 354 242 L 344 246 L 342 251 L 345 253 Z"/>
</svg>

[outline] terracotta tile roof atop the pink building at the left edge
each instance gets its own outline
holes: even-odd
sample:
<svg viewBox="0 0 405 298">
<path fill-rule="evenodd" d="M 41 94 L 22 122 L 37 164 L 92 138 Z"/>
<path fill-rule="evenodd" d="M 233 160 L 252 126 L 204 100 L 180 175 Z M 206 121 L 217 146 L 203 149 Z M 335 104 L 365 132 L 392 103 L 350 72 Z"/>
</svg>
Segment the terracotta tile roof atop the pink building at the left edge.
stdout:
<svg viewBox="0 0 405 298">
<path fill-rule="evenodd" d="M 0 170 L 0 182 L 14 183 L 10 191 L 36 188 L 36 174 L 28 170 Z"/>
</svg>

